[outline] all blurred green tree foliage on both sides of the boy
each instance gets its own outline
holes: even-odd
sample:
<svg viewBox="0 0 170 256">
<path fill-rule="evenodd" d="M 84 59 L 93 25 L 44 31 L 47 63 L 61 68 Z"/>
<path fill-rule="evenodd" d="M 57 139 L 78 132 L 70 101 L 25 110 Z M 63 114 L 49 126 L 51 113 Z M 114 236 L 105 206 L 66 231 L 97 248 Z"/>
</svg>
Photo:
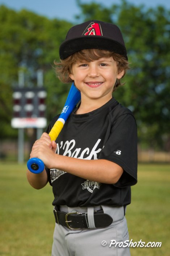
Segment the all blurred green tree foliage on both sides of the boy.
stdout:
<svg viewBox="0 0 170 256">
<path fill-rule="evenodd" d="M 170 11 L 163 7 L 147 9 L 125 0 L 109 8 L 80 0 L 77 5 L 77 23 L 95 19 L 120 27 L 131 69 L 123 78 L 126 84 L 116 90 L 114 97 L 135 114 L 140 143 L 166 148 L 170 138 Z M 43 69 L 48 120 L 60 112 L 69 86 L 56 78 L 52 65 L 54 59 L 59 59 L 59 46 L 72 25 L 0 6 L 1 137 L 16 136 L 10 119 L 12 87 L 17 85 L 20 69 L 25 70 L 27 86 L 35 86 L 36 71 Z"/>
</svg>

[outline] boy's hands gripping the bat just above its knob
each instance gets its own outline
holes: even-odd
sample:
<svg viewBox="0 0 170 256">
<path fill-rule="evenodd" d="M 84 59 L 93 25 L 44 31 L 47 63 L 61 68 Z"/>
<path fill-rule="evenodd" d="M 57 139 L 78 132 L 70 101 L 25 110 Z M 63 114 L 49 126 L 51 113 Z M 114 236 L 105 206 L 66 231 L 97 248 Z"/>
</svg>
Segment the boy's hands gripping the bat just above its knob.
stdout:
<svg viewBox="0 0 170 256">
<path fill-rule="evenodd" d="M 52 160 L 55 158 L 56 148 L 56 142 L 51 141 L 50 136 L 47 133 L 43 133 L 41 138 L 35 141 L 30 158 L 39 158 L 44 162 L 45 166 L 52 168 Z"/>
</svg>

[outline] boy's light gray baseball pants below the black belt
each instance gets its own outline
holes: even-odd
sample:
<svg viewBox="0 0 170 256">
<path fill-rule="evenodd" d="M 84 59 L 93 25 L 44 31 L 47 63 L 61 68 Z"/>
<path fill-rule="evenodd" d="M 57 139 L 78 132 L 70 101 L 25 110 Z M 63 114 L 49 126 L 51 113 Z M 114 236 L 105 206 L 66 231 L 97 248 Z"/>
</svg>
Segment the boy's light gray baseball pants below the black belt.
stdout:
<svg viewBox="0 0 170 256">
<path fill-rule="evenodd" d="M 95 228 L 93 211 L 103 209 L 113 222 L 109 227 Z M 129 247 L 121 246 L 129 239 L 123 207 L 60 207 L 64 212 L 88 212 L 90 229 L 70 230 L 55 224 L 52 256 L 130 256 Z"/>
</svg>

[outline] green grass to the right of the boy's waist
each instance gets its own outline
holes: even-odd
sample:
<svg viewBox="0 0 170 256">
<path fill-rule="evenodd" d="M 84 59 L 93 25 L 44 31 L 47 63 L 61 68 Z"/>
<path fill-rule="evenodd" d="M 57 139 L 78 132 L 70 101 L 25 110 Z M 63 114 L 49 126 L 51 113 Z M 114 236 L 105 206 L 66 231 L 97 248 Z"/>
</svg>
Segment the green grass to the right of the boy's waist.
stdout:
<svg viewBox="0 0 170 256">
<path fill-rule="evenodd" d="M 170 165 L 140 164 L 132 187 L 127 223 L 133 241 L 162 242 L 161 248 L 132 248 L 132 256 L 168 256 L 170 251 Z"/>
</svg>

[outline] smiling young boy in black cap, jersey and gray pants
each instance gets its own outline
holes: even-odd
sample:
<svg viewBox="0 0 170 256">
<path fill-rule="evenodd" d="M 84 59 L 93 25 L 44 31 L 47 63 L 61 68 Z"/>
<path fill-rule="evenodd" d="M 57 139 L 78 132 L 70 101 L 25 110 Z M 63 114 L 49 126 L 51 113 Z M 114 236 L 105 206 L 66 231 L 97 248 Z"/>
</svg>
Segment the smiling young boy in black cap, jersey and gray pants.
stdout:
<svg viewBox="0 0 170 256">
<path fill-rule="evenodd" d="M 48 133 L 58 116 L 34 143 L 30 157 L 42 159 L 46 170 L 27 171 L 34 188 L 47 182 L 53 188 L 52 256 L 130 255 L 123 244 L 128 240 L 124 215 L 137 182 L 136 122 L 112 97 L 127 68 L 123 37 L 113 24 L 76 25 L 60 46 L 59 78 L 74 81 L 81 102 L 56 142 Z"/>
</svg>

